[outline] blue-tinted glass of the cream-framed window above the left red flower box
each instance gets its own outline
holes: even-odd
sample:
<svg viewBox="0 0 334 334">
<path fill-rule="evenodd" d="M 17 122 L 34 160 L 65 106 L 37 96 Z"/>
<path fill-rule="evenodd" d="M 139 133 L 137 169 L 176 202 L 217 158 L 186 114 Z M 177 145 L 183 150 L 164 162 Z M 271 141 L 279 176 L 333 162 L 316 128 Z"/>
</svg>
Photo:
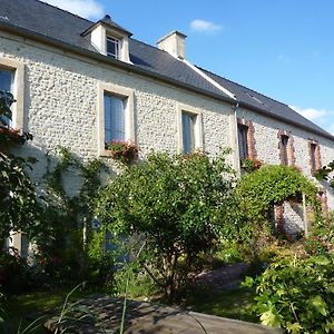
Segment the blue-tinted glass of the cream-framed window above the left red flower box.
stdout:
<svg viewBox="0 0 334 334">
<path fill-rule="evenodd" d="M 105 95 L 105 143 L 125 140 L 124 99 Z"/>
</svg>

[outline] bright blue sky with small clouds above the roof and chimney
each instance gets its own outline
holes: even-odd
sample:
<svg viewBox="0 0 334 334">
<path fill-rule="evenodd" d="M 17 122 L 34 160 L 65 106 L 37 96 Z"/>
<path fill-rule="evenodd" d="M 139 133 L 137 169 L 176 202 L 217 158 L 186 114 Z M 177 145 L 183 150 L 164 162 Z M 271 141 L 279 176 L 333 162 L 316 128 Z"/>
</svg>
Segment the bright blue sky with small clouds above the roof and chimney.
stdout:
<svg viewBox="0 0 334 334">
<path fill-rule="evenodd" d="M 155 45 L 187 35 L 187 59 L 268 95 L 334 134 L 333 0 L 45 0 L 91 20 L 109 13 Z"/>
</svg>

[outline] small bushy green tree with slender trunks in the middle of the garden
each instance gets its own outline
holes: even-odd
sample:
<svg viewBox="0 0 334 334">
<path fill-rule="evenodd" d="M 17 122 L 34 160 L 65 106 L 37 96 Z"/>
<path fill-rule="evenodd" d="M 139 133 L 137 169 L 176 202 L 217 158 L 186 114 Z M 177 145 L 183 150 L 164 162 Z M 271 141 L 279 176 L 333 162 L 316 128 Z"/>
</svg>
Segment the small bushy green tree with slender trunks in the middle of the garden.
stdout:
<svg viewBox="0 0 334 334">
<path fill-rule="evenodd" d="M 151 255 L 144 266 L 171 297 L 196 257 L 232 224 L 233 184 L 224 155 L 210 160 L 202 154 L 151 154 L 106 187 L 97 215 L 107 230 L 144 237 Z"/>
</svg>

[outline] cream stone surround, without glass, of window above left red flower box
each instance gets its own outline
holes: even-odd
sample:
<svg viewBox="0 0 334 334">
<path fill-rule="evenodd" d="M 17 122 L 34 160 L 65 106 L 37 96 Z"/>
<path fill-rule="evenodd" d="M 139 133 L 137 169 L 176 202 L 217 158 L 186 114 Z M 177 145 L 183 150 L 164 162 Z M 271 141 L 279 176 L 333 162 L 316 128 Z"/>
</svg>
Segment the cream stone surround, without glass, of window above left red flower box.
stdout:
<svg viewBox="0 0 334 334">
<path fill-rule="evenodd" d="M 115 95 L 124 99 L 125 141 L 136 143 L 135 138 L 135 106 L 134 90 L 114 84 L 98 84 L 98 155 L 110 156 L 105 147 L 105 94 Z"/>
</svg>

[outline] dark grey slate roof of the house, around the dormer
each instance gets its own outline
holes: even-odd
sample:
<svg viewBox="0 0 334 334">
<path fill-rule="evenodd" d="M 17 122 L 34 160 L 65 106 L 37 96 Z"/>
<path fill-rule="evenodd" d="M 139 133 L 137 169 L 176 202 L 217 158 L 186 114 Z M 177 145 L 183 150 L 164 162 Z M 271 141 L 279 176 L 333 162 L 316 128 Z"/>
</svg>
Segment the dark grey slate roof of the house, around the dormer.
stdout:
<svg viewBox="0 0 334 334">
<path fill-rule="evenodd" d="M 100 21 L 104 21 L 104 19 Z M 106 23 L 126 31 L 112 20 L 108 20 Z M 0 28 L 1 26 L 22 28 L 27 32 L 37 33 L 53 41 L 97 52 L 90 43 L 89 36 L 82 36 L 94 24 L 95 22 L 39 0 L 1 0 L 0 3 Z M 185 85 L 185 87 L 194 87 L 197 91 L 210 94 L 216 98 L 232 101 L 220 89 L 208 82 L 186 63 L 175 59 L 165 51 L 130 38 L 129 52 L 130 60 L 134 62 L 132 67 L 140 68 L 148 73 L 156 73 L 161 78 L 170 79 L 171 82 Z M 114 63 L 118 62 L 117 60 L 112 61 Z M 332 135 L 288 106 L 215 73 L 202 70 L 234 94 L 240 105 L 334 139 Z"/>
</svg>

